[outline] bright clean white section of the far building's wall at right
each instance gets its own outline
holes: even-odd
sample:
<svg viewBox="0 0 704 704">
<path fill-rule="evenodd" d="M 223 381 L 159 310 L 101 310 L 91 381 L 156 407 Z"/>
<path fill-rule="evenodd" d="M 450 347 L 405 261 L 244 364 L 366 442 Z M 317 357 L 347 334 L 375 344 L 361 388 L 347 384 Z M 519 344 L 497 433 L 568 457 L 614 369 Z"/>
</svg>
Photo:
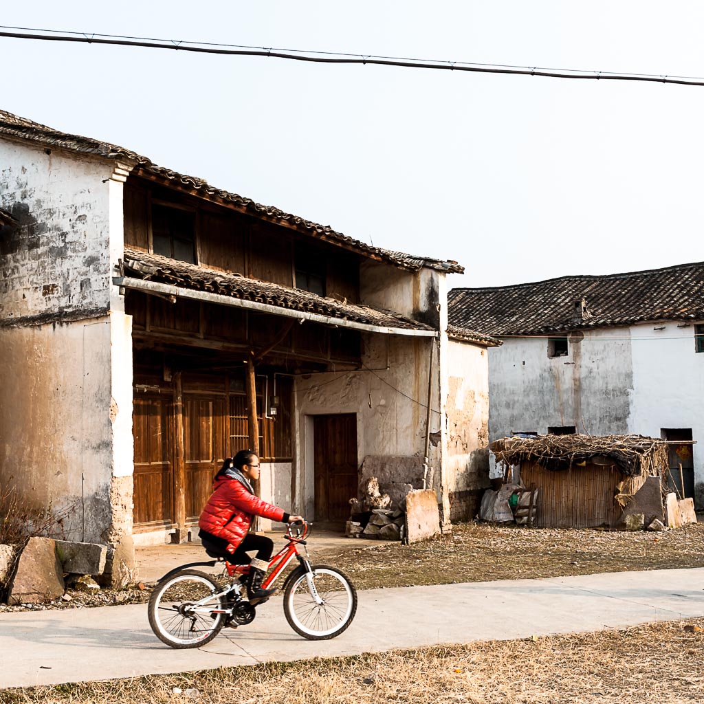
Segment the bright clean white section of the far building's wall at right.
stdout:
<svg viewBox="0 0 704 704">
<path fill-rule="evenodd" d="M 704 505 L 704 353 L 694 327 L 649 322 L 631 327 L 634 394 L 629 432 L 660 437 L 662 428 L 691 428 L 696 503 Z M 663 328 L 663 329 L 655 329 Z"/>
</svg>

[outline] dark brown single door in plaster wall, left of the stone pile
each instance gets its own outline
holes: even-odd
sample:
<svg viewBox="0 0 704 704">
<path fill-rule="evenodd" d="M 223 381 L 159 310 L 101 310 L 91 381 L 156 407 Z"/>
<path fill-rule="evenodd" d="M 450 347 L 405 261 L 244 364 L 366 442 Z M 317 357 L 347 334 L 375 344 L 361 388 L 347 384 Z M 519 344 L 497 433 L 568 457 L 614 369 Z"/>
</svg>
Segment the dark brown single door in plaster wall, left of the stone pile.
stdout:
<svg viewBox="0 0 704 704">
<path fill-rule="evenodd" d="M 357 497 L 357 416 L 316 415 L 313 446 L 315 520 L 346 521 Z"/>
</svg>

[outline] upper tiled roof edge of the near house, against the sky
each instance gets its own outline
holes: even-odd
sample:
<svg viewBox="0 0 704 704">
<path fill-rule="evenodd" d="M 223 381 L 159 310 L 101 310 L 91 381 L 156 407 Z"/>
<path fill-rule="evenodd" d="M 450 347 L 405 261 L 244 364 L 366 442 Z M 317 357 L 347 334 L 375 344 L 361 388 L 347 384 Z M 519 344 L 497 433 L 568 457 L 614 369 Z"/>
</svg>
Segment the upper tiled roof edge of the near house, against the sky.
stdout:
<svg viewBox="0 0 704 704">
<path fill-rule="evenodd" d="M 121 146 L 110 144 L 109 142 L 99 142 L 97 139 L 80 137 L 77 134 L 65 134 L 58 132 L 39 122 L 32 122 L 26 118 L 20 118 L 6 111 L 0 110 L 0 135 L 14 137 L 15 139 L 29 139 L 32 142 L 56 146 L 61 149 L 77 151 L 84 154 L 95 154 L 112 159 L 124 159 L 137 165 L 136 172 L 146 172 L 151 175 L 167 180 L 177 188 L 187 189 L 189 192 L 195 191 L 196 195 L 203 198 L 216 199 L 225 205 L 233 206 L 245 210 L 255 217 L 264 218 L 273 222 L 284 222 L 298 232 L 308 234 L 311 237 L 318 237 L 331 241 L 335 244 L 353 249 L 363 256 L 379 258 L 382 261 L 397 266 L 402 269 L 415 271 L 422 267 L 428 267 L 448 273 L 462 273 L 464 268 L 455 261 L 442 261 L 427 257 L 417 257 L 403 252 L 389 251 L 379 247 L 369 246 L 357 239 L 347 237 L 341 232 L 336 232 L 329 225 L 318 225 L 310 220 L 299 218 L 298 215 L 285 213 L 273 206 L 263 206 L 255 203 L 249 198 L 243 198 L 236 193 L 224 191 L 210 186 L 207 182 L 194 176 L 187 176 L 176 171 L 158 166 L 151 162 L 146 156 L 141 156 L 134 151 L 124 149 Z"/>
</svg>

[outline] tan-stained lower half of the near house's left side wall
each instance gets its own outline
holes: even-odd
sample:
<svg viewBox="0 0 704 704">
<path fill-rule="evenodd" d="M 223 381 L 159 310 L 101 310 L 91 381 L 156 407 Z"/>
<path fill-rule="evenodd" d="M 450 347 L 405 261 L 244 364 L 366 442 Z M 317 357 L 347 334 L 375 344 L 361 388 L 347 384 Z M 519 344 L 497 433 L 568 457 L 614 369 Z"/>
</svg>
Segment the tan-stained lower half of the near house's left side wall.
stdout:
<svg viewBox="0 0 704 704">
<path fill-rule="evenodd" d="M 0 478 L 58 511 L 76 540 L 111 522 L 108 318 L 0 329 Z"/>
</svg>

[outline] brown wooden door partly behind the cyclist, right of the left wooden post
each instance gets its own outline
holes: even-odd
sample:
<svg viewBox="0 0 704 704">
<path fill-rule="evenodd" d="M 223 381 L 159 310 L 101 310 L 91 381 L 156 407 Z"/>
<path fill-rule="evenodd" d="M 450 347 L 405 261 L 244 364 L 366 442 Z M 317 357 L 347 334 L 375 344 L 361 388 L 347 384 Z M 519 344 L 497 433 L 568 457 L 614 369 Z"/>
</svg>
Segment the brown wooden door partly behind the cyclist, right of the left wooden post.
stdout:
<svg viewBox="0 0 704 704">
<path fill-rule="evenodd" d="M 186 516 L 196 520 L 225 460 L 225 398 L 184 395 L 183 425 Z"/>
</svg>

